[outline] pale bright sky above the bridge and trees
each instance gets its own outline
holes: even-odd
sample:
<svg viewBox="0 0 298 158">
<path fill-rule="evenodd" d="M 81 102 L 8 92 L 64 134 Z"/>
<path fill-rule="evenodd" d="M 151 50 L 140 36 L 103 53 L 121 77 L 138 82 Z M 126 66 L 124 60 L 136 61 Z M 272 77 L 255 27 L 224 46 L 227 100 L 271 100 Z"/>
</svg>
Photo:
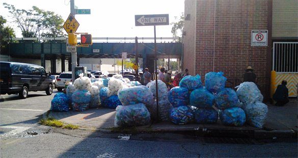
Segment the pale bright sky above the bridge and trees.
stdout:
<svg viewBox="0 0 298 158">
<path fill-rule="evenodd" d="M 21 37 L 20 29 L 12 22 L 3 3 L 17 9 L 37 6 L 53 11 L 65 20 L 70 13 L 69 0 L 0 0 L 0 15 L 16 30 L 16 37 Z M 175 16 L 184 12 L 184 0 L 75 0 L 74 4 L 78 9 L 91 9 L 90 15 L 75 15 L 75 19 L 80 24 L 77 32 L 87 32 L 92 37 L 154 37 L 153 26 L 135 26 L 134 15 L 169 14 L 171 23 L 175 22 Z M 156 37 L 172 37 L 171 28 L 171 25 L 156 26 Z"/>
</svg>

